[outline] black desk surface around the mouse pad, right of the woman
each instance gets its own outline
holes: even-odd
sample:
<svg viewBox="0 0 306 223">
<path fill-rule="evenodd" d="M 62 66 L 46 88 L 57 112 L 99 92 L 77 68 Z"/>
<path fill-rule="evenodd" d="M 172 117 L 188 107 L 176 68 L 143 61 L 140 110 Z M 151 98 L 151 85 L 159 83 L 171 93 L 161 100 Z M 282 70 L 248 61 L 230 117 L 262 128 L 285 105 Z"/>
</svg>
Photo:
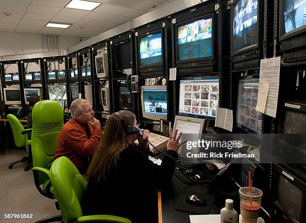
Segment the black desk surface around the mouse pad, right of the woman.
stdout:
<svg viewBox="0 0 306 223">
<path fill-rule="evenodd" d="M 176 210 L 174 208 L 175 202 L 177 198 L 184 191 L 206 193 L 207 192 L 206 186 L 207 183 L 192 184 L 192 185 L 184 184 L 175 175 L 173 175 L 169 186 L 161 191 L 162 223 L 190 222 L 189 215 L 194 213 L 188 213 Z M 219 214 L 219 213 L 220 212 L 213 207 L 209 212 L 209 214 Z"/>
</svg>

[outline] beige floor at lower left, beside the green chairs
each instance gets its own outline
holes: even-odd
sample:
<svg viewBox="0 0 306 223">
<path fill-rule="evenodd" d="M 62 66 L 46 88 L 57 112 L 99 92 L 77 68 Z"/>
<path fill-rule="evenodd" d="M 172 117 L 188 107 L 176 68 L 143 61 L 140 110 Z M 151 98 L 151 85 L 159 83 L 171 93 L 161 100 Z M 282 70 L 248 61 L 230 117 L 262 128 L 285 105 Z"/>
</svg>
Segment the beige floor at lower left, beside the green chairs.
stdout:
<svg viewBox="0 0 306 223">
<path fill-rule="evenodd" d="M 0 154 L 0 222 L 34 222 L 44 217 L 60 214 L 55 199 L 42 196 L 34 185 L 31 170 L 24 171 L 25 163 L 19 162 L 8 169 L 9 163 L 26 155 L 25 149 L 5 149 Z M 4 213 L 29 213 L 32 219 L 4 219 Z"/>
</svg>

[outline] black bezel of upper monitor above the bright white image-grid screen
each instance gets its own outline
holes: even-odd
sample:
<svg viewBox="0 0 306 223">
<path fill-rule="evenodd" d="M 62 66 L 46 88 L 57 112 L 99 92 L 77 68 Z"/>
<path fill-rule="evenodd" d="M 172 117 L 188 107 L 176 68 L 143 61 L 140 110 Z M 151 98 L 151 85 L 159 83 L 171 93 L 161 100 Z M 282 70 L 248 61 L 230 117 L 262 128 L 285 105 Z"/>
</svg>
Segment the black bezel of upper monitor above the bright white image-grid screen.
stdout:
<svg viewBox="0 0 306 223">
<path fill-rule="evenodd" d="M 183 60 L 179 60 L 178 59 L 178 42 L 177 42 L 177 38 L 178 38 L 178 28 L 182 25 L 185 25 L 185 24 L 190 24 L 192 23 L 191 21 L 196 21 L 196 20 L 200 20 L 200 19 L 207 19 L 207 18 L 212 18 L 212 23 L 211 23 L 211 48 L 212 48 L 212 56 L 207 56 L 207 57 L 198 57 L 198 58 L 193 58 L 193 59 L 183 59 Z M 188 63 L 188 62 L 194 62 L 194 61 L 203 61 L 203 60 L 212 60 L 214 59 L 214 56 L 215 56 L 215 32 L 216 32 L 216 27 L 215 27 L 215 20 L 216 20 L 216 16 L 214 15 L 213 12 L 211 13 L 207 13 L 207 14 L 204 14 L 204 15 L 200 15 L 200 16 L 197 16 L 197 17 L 193 17 L 193 18 L 189 18 L 187 20 L 184 20 L 184 21 L 181 21 L 181 22 L 178 22 L 175 24 L 175 27 L 174 27 L 174 31 L 175 31 L 175 61 L 177 64 L 179 63 Z"/>
</svg>

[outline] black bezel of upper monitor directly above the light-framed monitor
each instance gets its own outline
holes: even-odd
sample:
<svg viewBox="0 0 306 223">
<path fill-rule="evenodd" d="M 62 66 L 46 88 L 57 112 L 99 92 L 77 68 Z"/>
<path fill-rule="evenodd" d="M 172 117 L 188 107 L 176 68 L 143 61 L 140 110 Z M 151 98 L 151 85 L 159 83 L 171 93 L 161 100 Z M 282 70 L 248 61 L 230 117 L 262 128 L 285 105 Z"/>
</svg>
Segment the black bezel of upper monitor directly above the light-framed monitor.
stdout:
<svg viewBox="0 0 306 223">
<path fill-rule="evenodd" d="M 141 59 L 140 59 L 140 39 L 147 36 L 147 35 L 154 35 L 160 33 L 161 34 L 161 62 L 158 63 L 153 63 L 153 64 L 149 64 L 149 65 L 141 65 Z M 164 45 L 164 29 L 163 28 L 159 28 L 159 29 L 155 29 L 146 33 L 143 33 L 139 36 L 137 36 L 137 46 L 138 46 L 138 53 L 137 53 L 137 57 L 138 57 L 138 67 L 139 69 L 141 68 L 148 68 L 148 67 L 155 67 L 155 66 L 163 66 L 164 63 L 164 52 L 165 52 L 165 45 Z"/>
</svg>

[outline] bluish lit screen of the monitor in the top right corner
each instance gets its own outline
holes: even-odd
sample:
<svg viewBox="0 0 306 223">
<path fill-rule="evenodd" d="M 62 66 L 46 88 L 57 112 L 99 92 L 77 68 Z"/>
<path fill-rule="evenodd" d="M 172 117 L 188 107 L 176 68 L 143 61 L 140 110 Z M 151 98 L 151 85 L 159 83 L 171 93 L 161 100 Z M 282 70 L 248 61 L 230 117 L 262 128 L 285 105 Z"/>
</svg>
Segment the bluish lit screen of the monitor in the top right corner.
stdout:
<svg viewBox="0 0 306 223">
<path fill-rule="evenodd" d="M 306 25 L 306 0 L 284 0 L 285 33 Z"/>
</svg>

